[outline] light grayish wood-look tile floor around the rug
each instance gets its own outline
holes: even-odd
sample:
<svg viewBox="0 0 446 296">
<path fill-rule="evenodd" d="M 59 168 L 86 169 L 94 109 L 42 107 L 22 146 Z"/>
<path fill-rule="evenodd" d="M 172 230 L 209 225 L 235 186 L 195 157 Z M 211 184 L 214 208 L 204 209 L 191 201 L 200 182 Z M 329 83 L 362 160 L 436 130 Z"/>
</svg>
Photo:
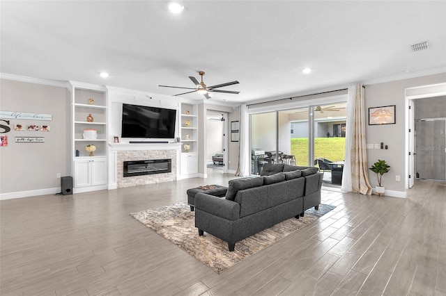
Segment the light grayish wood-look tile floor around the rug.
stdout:
<svg viewBox="0 0 446 296">
<path fill-rule="evenodd" d="M 222 274 L 128 215 L 233 178 L 1 201 L 0 294 L 446 295 L 445 183 L 406 199 L 323 190 L 333 211 Z"/>
</svg>

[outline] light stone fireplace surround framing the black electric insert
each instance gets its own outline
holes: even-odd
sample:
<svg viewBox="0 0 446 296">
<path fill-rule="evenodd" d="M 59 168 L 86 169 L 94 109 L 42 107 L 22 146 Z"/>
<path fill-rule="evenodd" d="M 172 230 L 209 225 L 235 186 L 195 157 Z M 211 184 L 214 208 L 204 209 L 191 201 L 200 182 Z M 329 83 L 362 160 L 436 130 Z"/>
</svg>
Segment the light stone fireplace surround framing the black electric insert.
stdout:
<svg viewBox="0 0 446 296">
<path fill-rule="evenodd" d="M 116 185 L 118 188 L 148 185 L 176 180 L 176 150 L 129 150 L 116 152 Z M 171 172 L 167 174 L 146 174 L 124 177 L 124 161 L 141 159 L 171 159 Z"/>
</svg>

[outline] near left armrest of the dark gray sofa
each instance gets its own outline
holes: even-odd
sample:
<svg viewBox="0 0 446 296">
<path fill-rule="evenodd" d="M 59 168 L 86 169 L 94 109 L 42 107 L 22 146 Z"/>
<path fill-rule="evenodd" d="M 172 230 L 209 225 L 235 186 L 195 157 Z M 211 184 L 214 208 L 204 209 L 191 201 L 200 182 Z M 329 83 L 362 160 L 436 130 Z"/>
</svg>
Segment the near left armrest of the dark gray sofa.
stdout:
<svg viewBox="0 0 446 296">
<path fill-rule="evenodd" d="M 195 208 L 196 211 L 203 211 L 231 221 L 240 217 L 240 204 L 224 197 L 215 197 L 203 192 L 195 195 Z"/>
</svg>

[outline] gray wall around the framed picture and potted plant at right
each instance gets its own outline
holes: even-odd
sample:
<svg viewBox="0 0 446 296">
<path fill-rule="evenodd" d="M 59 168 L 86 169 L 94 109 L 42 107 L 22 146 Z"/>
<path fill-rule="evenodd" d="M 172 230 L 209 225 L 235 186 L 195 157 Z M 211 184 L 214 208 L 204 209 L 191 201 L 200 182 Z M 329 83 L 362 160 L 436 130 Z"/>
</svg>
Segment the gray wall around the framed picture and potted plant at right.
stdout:
<svg viewBox="0 0 446 296">
<path fill-rule="evenodd" d="M 405 120 L 405 89 L 421 85 L 444 83 L 446 73 L 403 79 L 386 83 L 367 85 L 365 89 L 365 116 L 367 118 L 366 138 L 367 143 L 378 144 L 383 142 L 388 149 L 367 149 L 367 163 L 369 165 L 384 159 L 390 165 L 390 172 L 383 176 L 383 184 L 386 190 L 405 191 L 406 180 L 406 131 Z M 396 124 L 368 125 L 369 108 L 378 106 L 396 105 Z M 395 175 L 401 176 L 401 181 L 395 181 Z M 371 186 L 377 185 L 376 175 L 369 171 Z"/>
</svg>

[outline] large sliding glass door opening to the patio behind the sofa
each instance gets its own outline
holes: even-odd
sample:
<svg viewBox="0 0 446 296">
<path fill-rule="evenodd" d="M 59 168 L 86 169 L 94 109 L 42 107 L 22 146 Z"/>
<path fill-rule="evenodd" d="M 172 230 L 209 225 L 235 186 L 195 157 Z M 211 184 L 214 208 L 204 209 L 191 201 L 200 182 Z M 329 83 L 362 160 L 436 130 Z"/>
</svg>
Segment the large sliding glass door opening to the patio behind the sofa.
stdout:
<svg viewBox="0 0 446 296">
<path fill-rule="evenodd" d="M 346 103 L 303 106 L 251 115 L 252 174 L 264 163 L 319 167 L 340 186 L 344 168 Z"/>
</svg>

